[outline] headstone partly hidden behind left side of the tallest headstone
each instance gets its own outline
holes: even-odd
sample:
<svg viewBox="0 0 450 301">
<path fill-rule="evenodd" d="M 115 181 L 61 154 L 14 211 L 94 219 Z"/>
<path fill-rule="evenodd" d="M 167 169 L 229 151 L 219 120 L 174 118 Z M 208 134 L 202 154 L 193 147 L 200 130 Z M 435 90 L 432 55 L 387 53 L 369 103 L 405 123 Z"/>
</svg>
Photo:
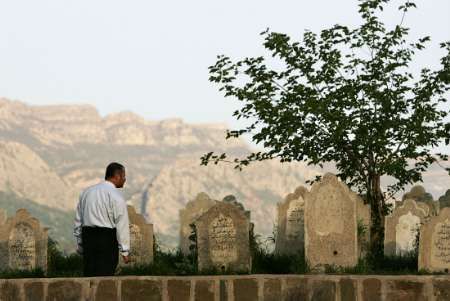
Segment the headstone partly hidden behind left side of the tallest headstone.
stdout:
<svg viewBox="0 0 450 301">
<path fill-rule="evenodd" d="M 275 253 L 296 254 L 305 251 L 305 200 L 307 189 L 298 187 L 278 203 Z"/>
</svg>

